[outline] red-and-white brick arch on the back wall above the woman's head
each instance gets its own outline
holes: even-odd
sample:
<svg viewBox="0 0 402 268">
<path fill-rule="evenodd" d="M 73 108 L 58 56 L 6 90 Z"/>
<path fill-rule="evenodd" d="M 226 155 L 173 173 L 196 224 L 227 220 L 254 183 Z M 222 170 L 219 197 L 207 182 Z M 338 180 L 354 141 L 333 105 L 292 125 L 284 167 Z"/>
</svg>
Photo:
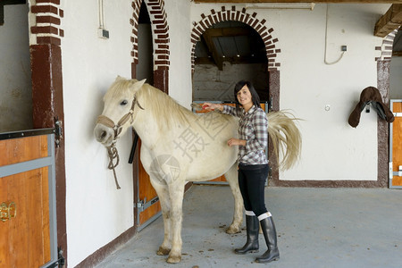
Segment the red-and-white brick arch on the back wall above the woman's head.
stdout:
<svg viewBox="0 0 402 268">
<path fill-rule="evenodd" d="M 246 8 L 239 11 L 236 9 L 236 6 L 232 6 L 228 10 L 225 6 L 222 6 L 220 11 L 212 9 L 209 15 L 202 13 L 201 21 L 196 22 L 191 31 L 191 43 L 193 44 L 191 48 L 191 70 L 194 72 L 194 54 L 196 52 L 197 41 L 205 30 L 221 21 L 240 21 L 255 29 L 263 39 L 266 57 L 268 58 L 268 71 L 278 71 L 278 68 L 281 66 L 281 63 L 276 63 L 276 56 L 278 53 L 281 53 L 281 49 L 276 46 L 278 38 L 272 37 L 273 29 L 267 28 L 264 25 L 266 20 L 260 21 L 256 18 L 256 15 L 257 13 L 247 13 Z"/>
</svg>

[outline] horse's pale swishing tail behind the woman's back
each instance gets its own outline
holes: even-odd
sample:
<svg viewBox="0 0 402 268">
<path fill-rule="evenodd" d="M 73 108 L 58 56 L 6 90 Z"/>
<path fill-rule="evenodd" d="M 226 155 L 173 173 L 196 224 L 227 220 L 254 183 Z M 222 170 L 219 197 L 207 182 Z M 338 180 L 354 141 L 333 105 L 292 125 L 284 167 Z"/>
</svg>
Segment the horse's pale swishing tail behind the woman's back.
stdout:
<svg viewBox="0 0 402 268">
<path fill-rule="evenodd" d="M 289 170 L 297 163 L 301 154 L 302 139 L 292 113 L 278 111 L 270 112 L 268 117 L 268 134 L 272 139 L 273 153 L 278 159 L 281 170 Z"/>
</svg>

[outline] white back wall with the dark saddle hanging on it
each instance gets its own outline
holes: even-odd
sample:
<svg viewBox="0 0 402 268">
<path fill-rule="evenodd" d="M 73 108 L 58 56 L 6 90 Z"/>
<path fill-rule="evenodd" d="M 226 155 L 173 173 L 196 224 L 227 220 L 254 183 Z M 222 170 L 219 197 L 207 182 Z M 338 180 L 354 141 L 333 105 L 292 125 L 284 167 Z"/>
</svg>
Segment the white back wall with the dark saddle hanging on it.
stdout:
<svg viewBox="0 0 402 268">
<path fill-rule="evenodd" d="M 244 4 L 236 5 L 241 10 Z M 221 10 L 222 4 L 192 4 L 191 21 L 201 13 Z M 257 18 L 273 28 L 281 49 L 281 109 L 290 109 L 298 118 L 303 152 L 297 167 L 281 172 L 281 180 L 377 180 L 377 116 L 362 113 L 356 129 L 348 116 L 360 92 L 377 87 L 377 63 L 381 38 L 373 36 L 375 22 L 389 4 L 330 4 L 328 15 L 327 61 L 339 58 L 340 46 L 348 52 L 339 63 L 324 60 L 326 4 L 314 11 L 258 9 Z M 330 105 L 330 111 L 325 106 Z"/>
</svg>

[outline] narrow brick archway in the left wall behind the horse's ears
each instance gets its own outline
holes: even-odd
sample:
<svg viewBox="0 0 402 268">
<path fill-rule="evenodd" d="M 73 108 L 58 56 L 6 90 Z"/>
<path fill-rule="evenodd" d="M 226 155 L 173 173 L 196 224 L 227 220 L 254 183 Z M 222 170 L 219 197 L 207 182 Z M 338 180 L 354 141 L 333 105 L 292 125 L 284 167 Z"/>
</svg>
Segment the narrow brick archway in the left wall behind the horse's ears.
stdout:
<svg viewBox="0 0 402 268">
<path fill-rule="evenodd" d="M 138 17 L 141 3 L 145 1 L 151 19 L 153 47 L 154 47 L 154 86 L 168 94 L 169 78 L 169 26 L 164 11 L 164 0 L 135 0 L 130 24 L 132 32 L 130 41 L 133 44 L 131 56 L 133 58 L 131 76 L 135 78 L 135 69 L 138 64 Z"/>
</svg>

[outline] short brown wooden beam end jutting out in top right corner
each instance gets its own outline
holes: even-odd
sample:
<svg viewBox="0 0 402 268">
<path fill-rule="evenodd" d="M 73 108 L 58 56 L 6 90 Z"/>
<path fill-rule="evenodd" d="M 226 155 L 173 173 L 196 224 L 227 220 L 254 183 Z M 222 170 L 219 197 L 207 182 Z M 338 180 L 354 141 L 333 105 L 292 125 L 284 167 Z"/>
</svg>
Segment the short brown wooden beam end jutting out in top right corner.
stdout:
<svg viewBox="0 0 402 268">
<path fill-rule="evenodd" d="M 402 24 L 402 4 L 392 4 L 374 27 L 374 36 L 385 38 Z"/>
</svg>

